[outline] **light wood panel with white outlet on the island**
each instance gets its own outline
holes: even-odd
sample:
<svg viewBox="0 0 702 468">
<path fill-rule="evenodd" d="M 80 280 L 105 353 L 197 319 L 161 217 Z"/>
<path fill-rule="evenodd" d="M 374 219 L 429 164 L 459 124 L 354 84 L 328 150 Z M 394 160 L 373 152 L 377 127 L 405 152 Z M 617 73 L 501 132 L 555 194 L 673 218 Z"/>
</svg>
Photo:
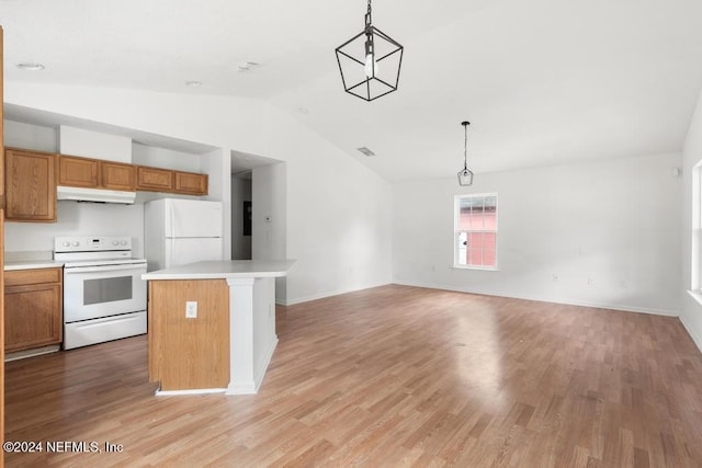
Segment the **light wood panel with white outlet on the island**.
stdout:
<svg viewBox="0 0 702 468">
<path fill-rule="evenodd" d="M 225 279 L 150 281 L 149 376 L 161 390 L 229 385 L 229 287 Z M 197 301 L 197 318 L 185 303 Z"/>
</svg>

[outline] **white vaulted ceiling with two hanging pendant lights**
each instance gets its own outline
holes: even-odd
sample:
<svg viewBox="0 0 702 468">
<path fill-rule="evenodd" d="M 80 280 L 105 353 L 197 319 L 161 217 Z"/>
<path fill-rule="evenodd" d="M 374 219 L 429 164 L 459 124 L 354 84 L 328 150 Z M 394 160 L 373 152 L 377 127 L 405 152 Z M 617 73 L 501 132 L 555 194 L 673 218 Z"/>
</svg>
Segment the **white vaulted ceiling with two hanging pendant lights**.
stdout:
<svg viewBox="0 0 702 468">
<path fill-rule="evenodd" d="M 702 88 L 699 0 L 375 0 L 405 57 L 399 90 L 367 103 L 343 92 L 333 54 L 365 10 L 0 0 L 5 80 L 269 101 L 390 182 L 454 176 L 465 119 L 476 173 L 679 151 Z"/>
</svg>

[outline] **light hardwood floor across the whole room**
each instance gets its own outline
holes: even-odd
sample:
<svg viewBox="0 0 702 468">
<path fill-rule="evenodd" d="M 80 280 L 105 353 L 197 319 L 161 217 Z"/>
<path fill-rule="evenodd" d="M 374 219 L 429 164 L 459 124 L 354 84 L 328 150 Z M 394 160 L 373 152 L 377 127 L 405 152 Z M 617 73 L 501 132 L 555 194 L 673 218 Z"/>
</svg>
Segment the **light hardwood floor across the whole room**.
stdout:
<svg viewBox="0 0 702 468">
<path fill-rule="evenodd" d="M 701 467 L 676 318 L 383 286 L 278 310 L 256 396 L 155 397 L 147 340 L 7 365 L 8 466 Z"/>
</svg>

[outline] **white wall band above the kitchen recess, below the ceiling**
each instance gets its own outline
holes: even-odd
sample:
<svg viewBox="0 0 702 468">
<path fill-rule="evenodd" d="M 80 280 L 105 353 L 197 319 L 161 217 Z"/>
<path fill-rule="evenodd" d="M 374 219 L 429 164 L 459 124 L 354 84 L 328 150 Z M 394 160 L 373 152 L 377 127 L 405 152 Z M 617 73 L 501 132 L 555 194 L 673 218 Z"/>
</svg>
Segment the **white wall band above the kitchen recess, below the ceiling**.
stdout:
<svg viewBox="0 0 702 468">
<path fill-rule="evenodd" d="M 216 148 L 269 152 L 265 106 L 257 100 L 8 80 L 3 84 L 8 104 Z"/>
</svg>

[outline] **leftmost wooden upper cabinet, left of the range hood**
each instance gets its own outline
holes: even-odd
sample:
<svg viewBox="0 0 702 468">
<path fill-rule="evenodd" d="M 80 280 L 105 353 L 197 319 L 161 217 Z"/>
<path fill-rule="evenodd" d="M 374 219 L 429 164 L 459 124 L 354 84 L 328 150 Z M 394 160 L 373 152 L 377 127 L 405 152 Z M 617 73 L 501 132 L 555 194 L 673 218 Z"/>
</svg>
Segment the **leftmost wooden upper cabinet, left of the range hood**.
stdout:
<svg viewBox="0 0 702 468">
<path fill-rule="evenodd" d="M 5 220 L 56 221 L 55 153 L 7 148 Z"/>
</svg>

